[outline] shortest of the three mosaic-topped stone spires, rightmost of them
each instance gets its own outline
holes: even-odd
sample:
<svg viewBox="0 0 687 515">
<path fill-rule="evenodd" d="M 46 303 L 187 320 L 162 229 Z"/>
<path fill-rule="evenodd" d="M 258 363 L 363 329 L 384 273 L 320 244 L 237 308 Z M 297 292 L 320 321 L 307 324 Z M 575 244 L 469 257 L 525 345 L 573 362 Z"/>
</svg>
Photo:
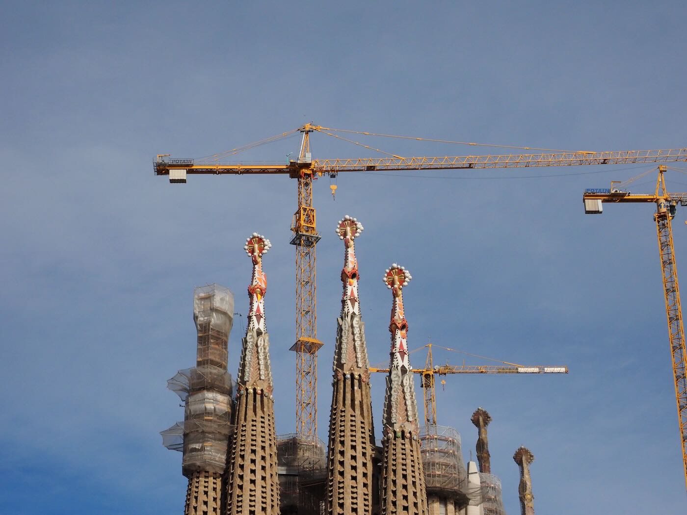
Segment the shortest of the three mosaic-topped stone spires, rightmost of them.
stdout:
<svg viewBox="0 0 687 515">
<path fill-rule="evenodd" d="M 418 406 L 407 345 L 403 287 L 410 273 L 395 263 L 383 280 L 392 290 L 391 360 L 383 413 L 382 515 L 427 515 L 425 472 L 420 457 Z"/>
</svg>

